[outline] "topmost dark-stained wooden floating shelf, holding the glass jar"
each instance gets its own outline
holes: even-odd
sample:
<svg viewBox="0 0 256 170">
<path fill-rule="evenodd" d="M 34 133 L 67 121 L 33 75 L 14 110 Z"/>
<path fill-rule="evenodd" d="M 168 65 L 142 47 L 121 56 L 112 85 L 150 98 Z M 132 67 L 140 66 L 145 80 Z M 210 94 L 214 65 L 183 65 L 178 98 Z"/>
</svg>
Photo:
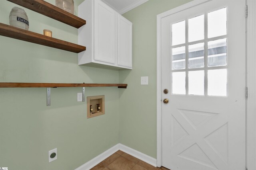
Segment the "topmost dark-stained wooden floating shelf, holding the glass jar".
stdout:
<svg viewBox="0 0 256 170">
<path fill-rule="evenodd" d="M 80 28 L 86 21 L 82 18 L 79 18 L 69 12 L 66 12 L 44 0 L 8 0 L 14 4 L 18 4 L 35 12 L 38 12 L 42 15 L 53 18 L 60 22 L 66 23 L 72 27 Z"/>
</svg>

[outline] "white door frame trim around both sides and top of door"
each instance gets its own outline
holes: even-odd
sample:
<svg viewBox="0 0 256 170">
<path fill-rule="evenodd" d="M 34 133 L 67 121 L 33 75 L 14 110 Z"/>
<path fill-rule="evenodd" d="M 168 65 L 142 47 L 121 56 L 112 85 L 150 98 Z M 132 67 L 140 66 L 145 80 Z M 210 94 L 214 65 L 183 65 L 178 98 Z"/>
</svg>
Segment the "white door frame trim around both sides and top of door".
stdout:
<svg viewBox="0 0 256 170">
<path fill-rule="evenodd" d="M 193 0 L 162 14 L 157 18 L 157 74 L 156 74 L 156 165 L 162 166 L 162 65 L 161 65 L 161 19 L 203 4 L 211 0 Z M 248 17 L 246 18 L 246 86 L 248 98 L 246 100 L 246 167 L 256 169 L 256 0 L 246 0 Z M 246 7 L 245 7 L 246 10 Z"/>
</svg>

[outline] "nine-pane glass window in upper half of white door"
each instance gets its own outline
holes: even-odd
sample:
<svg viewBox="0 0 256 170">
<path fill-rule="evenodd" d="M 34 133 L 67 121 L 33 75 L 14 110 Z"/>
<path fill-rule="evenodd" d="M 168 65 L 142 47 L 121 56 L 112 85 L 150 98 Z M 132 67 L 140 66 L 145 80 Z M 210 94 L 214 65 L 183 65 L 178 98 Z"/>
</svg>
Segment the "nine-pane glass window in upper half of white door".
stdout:
<svg viewBox="0 0 256 170">
<path fill-rule="evenodd" d="M 227 96 L 227 8 L 171 24 L 172 94 Z"/>
</svg>

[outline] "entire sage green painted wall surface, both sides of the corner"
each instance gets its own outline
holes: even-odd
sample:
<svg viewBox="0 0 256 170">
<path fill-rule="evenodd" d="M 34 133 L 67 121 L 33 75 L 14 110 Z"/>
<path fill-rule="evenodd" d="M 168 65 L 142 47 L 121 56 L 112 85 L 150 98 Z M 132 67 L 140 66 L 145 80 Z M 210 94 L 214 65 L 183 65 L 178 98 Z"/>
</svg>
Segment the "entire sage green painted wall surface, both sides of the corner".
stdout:
<svg viewBox="0 0 256 170">
<path fill-rule="evenodd" d="M 47 0 L 55 4 L 55 0 Z M 75 0 L 77 5 L 83 0 Z M 190 0 L 149 0 L 124 14 L 133 23 L 133 70 L 78 66 L 76 53 L 0 36 L 0 82 L 128 83 L 127 89 L 86 88 L 105 95 L 106 114 L 86 119 L 81 88 L 0 89 L 0 166 L 16 170 L 72 170 L 117 143 L 156 158 L 156 15 Z M 0 22 L 11 2 L 0 0 Z M 30 31 L 77 43 L 77 29 L 26 9 Z M 149 76 L 149 85 L 140 85 Z M 58 159 L 48 163 L 48 150 Z"/>
</svg>

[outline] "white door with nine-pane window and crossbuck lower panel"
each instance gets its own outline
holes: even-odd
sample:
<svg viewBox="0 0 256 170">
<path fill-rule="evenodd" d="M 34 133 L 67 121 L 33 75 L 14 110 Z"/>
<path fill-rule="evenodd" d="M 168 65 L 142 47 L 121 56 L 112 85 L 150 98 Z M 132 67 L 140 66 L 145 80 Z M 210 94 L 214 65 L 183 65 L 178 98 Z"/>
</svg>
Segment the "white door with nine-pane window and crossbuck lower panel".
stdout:
<svg viewBox="0 0 256 170">
<path fill-rule="evenodd" d="M 245 169 L 245 5 L 210 0 L 161 19 L 162 166 Z"/>
</svg>

